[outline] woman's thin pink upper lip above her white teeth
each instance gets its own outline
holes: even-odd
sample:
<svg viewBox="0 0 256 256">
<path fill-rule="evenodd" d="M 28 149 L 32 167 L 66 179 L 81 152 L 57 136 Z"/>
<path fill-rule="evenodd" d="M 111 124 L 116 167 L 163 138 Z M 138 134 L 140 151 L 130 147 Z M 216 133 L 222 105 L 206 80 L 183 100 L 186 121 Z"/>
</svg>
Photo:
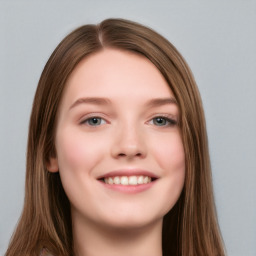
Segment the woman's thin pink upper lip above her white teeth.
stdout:
<svg viewBox="0 0 256 256">
<path fill-rule="evenodd" d="M 97 179 L 103 179 L 114 176 L 149 176 L 153 179 L 159 178 L 156 174 L 142 169 L 119 169 L 114 170 L 103 175 L 100 175 Z"/>
</svg>

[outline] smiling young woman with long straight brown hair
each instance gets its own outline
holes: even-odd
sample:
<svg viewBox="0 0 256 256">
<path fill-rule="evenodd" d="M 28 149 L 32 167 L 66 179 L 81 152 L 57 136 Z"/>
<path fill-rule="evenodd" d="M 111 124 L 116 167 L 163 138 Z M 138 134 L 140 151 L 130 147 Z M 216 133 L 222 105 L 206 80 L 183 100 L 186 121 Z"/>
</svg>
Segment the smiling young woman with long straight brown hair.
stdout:
<svg viewBox="0 0 256 256">
<path fill-rule="evenodd" d="M 69 34 L 48 60 L 6 256 L 224 255 L 192 73 L 140 24 Z"/>
</svg>

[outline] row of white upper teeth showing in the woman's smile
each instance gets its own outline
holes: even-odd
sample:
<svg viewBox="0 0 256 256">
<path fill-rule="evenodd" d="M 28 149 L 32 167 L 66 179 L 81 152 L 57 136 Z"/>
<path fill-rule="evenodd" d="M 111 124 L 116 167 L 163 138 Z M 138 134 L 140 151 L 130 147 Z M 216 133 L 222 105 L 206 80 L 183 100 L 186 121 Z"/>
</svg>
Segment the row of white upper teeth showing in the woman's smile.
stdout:
<svg viewBox="0 0 256 256">
<path fill-rule="evenodd" d="M 108 177 L 108 178 L 104 178 L 104 182 L 106 184 L 116 184 L 116 185 L 141 185 L 141 184 L 146 184 L 146 183 L 150 183 L 152 181 L 151 177 L 149 176 L 115 176 L 115 177 Z"/>
</svg>

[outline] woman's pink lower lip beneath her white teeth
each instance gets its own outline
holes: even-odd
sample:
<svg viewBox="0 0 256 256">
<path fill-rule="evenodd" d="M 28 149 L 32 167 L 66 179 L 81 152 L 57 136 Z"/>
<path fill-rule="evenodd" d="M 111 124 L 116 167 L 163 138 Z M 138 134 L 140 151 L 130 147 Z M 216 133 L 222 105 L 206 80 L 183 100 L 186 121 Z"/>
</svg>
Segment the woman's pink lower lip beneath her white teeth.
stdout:
<svg viewBox="0 0 256 256">
<path fill-rule="evenodd" d="M 112 189 L 115 191 L 119 191 L 122 193 L 128 193 L 128 194 L 135 194 L 135 193 L 140 193 L 140 192 L 146 191 L 146 190 L 150 189 L 154 185 L 155 182 L 156 181 L 152 181 L 150 183 L 140 184 L 140 185 L 116 185 L 116 184 L 110 185 L 110 184 L 106 184 L 101 181 L 102 185 L 108 189 Z"/>
</svg>

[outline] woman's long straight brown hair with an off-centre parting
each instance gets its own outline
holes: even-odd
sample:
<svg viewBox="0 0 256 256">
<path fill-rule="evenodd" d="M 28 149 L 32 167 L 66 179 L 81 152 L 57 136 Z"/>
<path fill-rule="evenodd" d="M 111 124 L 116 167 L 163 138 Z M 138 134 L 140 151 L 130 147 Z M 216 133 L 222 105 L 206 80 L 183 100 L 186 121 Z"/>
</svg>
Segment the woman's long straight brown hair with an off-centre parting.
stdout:
<svg viewBox="0 0 256 256">
<path fill-rule="evenodd" d="M 74 255 L 69 200 L 59 174 L 48 172 L 46 166 L 55 154 L 57 111 L 67 78 L 82 59 L 108 47 L 148 58 L 168 82 L 180 109 L 185 184 L 164 217 L 163 255 L 224 255 L 203 107 L 193 75 L 176 48 L 158 33 L 131 21 L 108 19 L 73 31 L 45 65 L 30 119 L 24 208 L 6 256 L 38 256 L 42 247 L 56 256 Z"/>
</svg>

